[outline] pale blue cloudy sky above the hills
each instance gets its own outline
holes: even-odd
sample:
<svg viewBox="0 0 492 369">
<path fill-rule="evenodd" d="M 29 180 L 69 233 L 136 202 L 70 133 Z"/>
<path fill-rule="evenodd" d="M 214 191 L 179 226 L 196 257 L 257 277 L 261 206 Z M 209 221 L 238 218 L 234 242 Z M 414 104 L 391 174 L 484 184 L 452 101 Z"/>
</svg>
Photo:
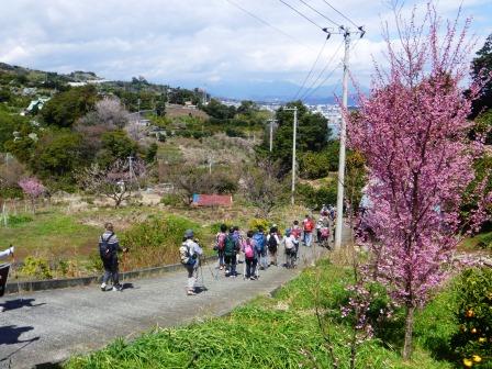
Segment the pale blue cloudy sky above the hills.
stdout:
<svg viewBox="0 0 492 369">
<path fill-rule="evenodd" d="M 60 72 L 91 70 L 108 79 L 142 75 L 171 86 L 211 86 L 243 81 L 301 85 L 325 35 L 280 0 L 0 0 L 0 62 Z M 321 26 L 333 26 L 301 0 L 284 0 Z M 321 13 L 353 26 L 324 0 L 304 0 Z M 391 21 L 389 1 L 331 0 L 367 34 L 351 55 L 354 75 L 368 83 L 371 56 L 381 58 L 381 22 Z M 461 0 L 437 2 L 455 18 Z M 260 18 L 250 16 L 233 3 Z M 492 33 L 492 1 L 462 0 L 473 16 L 478 47 Z M 406 2 L 406 8 L 425 2 Z M 318 69 L 342 37 L 326 43 Z M 332 67 L 327 68 L 332 70 Z M 335 83 L 336 69 L 327 83 Z"/>
</svg>

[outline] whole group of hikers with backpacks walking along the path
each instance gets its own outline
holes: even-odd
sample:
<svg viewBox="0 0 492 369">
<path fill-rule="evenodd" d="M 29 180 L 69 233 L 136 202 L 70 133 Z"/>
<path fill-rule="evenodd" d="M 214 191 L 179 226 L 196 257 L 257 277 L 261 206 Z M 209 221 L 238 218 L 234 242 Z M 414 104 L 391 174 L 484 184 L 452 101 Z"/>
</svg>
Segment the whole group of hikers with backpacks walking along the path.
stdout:
<svg viewBox="0 0 492 369">
<path fill-rule="evenodd" d="M 279 266 L 281 247 L 283 247 L 286 260 L 283 266 L 295 268 L 301 244 L 311 247 L 315 237 L 315 242 L 321 246 L 331 248 L 331 236 L 334 237 L 335 234 L 335 208 L 323 205 L 317 221 L 310 215 L 305 215 L 301 223 L 293 221 L 283 234 L 279 231 L 277 224 L 272 224 L 269 232 L 266 232 L 262 226 L 258 226 L 257 230 L 246 233 L 243 233 L 238 226 L 227 227 L 227 225 L 222 224 L 215 235 L 213 245 L 213 249 L 217 253 L 216 276 L 223 271 L 225 277 L 236 278 L 238 276 L 237 265 L 244 264 L 243 278 L 256 280 L 259 278 L 259 270 L 266 270 L 270 266 Z M 104 233 L 99 237 L 99 253 L 104 267 L 102 291 L 122 291 L 123 287 L 119 278 L 119 253 L 126 253 L 127 250 L 127 248 L 120 246 L 113 224 L 105 223 Z M 0 258 L 12 254 L 13 247 L 1 251 Z M 181 264 L 188 272 L 187 294 L 194 295 L 203 249 L 194 238 L 192 230 L 185 232 L 179 254 Z M 108 284 L 110 280 L 112 282 L 111 287 Z M 5 282 L 7 276 L 4 280 L 0 280 L 3 287 Z"/>
</svg>

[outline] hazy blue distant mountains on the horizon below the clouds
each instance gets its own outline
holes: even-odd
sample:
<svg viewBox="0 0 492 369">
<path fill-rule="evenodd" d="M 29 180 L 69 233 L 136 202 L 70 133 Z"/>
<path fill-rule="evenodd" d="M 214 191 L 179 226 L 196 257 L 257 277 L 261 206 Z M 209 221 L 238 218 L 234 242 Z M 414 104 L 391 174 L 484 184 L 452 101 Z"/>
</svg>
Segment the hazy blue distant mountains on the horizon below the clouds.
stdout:
<svg viewBox="0 0 492 369">
<path fill-rule="evenodd" d="M 219 98 L 254 100 L 266 102 L 286 102 L 302 98 L 304 103 L 336 103 L 342 96 L 342 85 L 323 86 L 318 89 L 304 88 L 298 94 L 300 86 L 288 81 L 228 81 L 208 86 L 208 92 Z M 353 92 L 349 94 L 354 94 Z M 354 99 L 349 98 L 349 104 Z"/>
</svg>

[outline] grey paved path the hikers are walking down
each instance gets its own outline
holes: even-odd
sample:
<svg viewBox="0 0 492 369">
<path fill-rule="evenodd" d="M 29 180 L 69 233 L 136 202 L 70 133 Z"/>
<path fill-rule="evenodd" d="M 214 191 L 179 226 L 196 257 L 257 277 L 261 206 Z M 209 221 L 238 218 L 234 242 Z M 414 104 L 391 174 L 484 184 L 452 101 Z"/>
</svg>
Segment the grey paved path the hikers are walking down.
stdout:
<svg viewBox="0 0 492 369">
<path fill-rule="evenodd" d="M 260 271 L 257 281 L 223 275 L 216 280 L 212 277 L 216 270 L 203 266 L 208 290 L 195 297 L 185 293 L 185 270 L 125 281 L 122 292 L 101 292 L 99 286 L 91 286 L 3 297 L 0 368 L 51 368 L 49 364 L 104 347 L 116 337 L 133 338 L 155 326 L 224 314 L 292 279 L 321 253 L 320 247 L 301 246 L 300 268 L 270 267 Z M 279 259 L 283 262 L 283 256 Z"/>
</svg>

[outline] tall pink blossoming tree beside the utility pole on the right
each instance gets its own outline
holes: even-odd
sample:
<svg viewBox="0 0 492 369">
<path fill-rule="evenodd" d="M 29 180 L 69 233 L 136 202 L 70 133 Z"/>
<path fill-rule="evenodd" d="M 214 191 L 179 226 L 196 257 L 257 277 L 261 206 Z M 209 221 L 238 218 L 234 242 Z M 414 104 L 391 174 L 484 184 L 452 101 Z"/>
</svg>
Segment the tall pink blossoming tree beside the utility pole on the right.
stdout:
<svg viewBox="0 0 492 369">
<path fill-rule="evenodd" d="M 444 265 L 463 224 L 470 227 L 483 215 L 481 208 L 467 219 L 460 213 L 481 148 L 470 142 L 467 121 L 480 86 L 467 94 L 461 88 L 472 47 L 469 22 L 460 27 L 458 16 L 443 32 L 428 7 L 417 23 L 415 12 L 410 22 L 396 15 L 396 41 L 385 32 L 389 68 L 377 66 L 370 97 L 360 94 L 360 114 L 346 114 L 349 145 L 364 154 L 369 177 L 364 224 L 373 237 L 366 276 L 384 283 L 406 310 L 405 359 L 415 309 L 446 277 Z"/>
</svg>

